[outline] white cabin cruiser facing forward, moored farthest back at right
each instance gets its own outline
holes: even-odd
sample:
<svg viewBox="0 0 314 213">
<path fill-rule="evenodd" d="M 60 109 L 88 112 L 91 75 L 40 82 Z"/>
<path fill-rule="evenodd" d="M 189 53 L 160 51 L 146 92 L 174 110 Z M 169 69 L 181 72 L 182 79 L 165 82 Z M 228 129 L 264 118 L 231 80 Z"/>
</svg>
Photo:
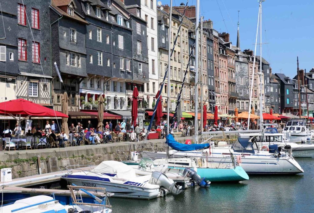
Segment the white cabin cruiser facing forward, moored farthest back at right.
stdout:
<svg viewBox="0 0 314 213">
<path fill-rule="evenodd" d="M 282 133 L 290 138 L 290 142 L 302 143 L 311 140 L 311 131 L 308 130 L 304 118 L 291 118 Z"/>
</svg>

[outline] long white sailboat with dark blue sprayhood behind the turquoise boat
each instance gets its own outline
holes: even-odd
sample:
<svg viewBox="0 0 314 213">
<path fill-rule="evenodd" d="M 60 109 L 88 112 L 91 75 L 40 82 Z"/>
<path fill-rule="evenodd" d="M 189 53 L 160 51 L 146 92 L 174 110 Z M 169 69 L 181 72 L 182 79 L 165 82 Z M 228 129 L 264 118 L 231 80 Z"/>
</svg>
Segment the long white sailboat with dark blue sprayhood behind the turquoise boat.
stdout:
<svg viewBox="0 0 314 213">
<path fill-rule="evenodd" d="M 271 154 L 267 151 L 258 149 L 256 143 L 252 143 L 251 138 L 239 138 L 231 147 L 226 143 L 218 146 L 211 146 L 210 151 L 176 151 L 169 150 L 170 158 L 178 157 L 202 157 L 209 163 L 230 164 L 231 154 L 237 157 L 238 163 L 248 174 L 297 174 L 304 172 L 298 162 L 290 155 L 280 156 L 279 153 Z M 204 153 L 210 153 L 205 156 Z M 153 159 L 165 158 L 166 152 L 148 152 L 143 151 L 143 157 Z"/>
</svg>

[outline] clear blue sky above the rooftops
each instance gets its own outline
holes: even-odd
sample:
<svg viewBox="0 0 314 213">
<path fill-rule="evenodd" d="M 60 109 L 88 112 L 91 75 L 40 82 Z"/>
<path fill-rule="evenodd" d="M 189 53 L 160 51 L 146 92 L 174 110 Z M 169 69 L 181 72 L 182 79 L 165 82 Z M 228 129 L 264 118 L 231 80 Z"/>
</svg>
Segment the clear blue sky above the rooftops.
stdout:
<svg viewBox="0 0 314 213">
<path fill-rule="evenodd" d="M 170 0 L 161 2 L 170 4 Z M 172 4 L 179 6 L 181 2 L 186 3 L 186 0 L 173 0 Z M 196 0 L 189 0 L 189 5 L 196 5 Z M 262 43 L 268 43 L 262 46 L 262 56 L 270 63 L 273 73 L 280 73 L 279 69 L 282 69 L 282 73 L 293 77 L 296 74 L 297 56 L 299 67 L 306 69 L 306 72 L 314 67 L 313 9 L 314 1 L 311 0 L 266 0 L 262 3 Z M 214 29 L 219 32 L 229 32 L 233 45 L 236 45 L 238 10 L 240 47 L 242 50 L 254 50 L 257 0 L 200 0 L 200 12 L 204 20 L 211 19 Z"/>
</svg>

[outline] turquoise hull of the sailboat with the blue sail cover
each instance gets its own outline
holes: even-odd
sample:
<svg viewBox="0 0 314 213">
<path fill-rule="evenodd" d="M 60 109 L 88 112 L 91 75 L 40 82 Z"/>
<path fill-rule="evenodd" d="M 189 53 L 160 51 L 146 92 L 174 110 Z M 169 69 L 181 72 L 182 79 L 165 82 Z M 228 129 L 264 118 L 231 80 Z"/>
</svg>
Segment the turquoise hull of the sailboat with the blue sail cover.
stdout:
<svg viewBox="0 0 314 213">
<path fill-rule="evenodd" d="M 174 169 L 183 170 L 185 167 L 169 167 Z M 192 168 L 193 169 L 193 168 Z M 240 166 L 232 168 L 197 168 L 197 174 L 199 176 L 206 177 L 210 182 L 239 182 L 242 180 L 248 180 L 249 176 Z"/>
</svg>

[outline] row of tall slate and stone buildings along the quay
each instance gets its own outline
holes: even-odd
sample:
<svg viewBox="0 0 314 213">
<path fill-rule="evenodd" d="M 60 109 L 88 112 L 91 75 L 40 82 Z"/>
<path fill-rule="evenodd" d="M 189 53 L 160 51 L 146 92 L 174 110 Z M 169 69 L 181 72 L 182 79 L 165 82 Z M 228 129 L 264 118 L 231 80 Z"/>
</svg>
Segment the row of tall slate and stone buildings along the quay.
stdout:
<svg viewBox="0 0 314 213">
<path fill-rule="evenodd" d="M 293 112 L 298 106 L 292 97 L 296 81 L 272 74 L 264 58 L 257 56 L 253 64 L 253 51 L 241 50 L 239 27 L 234 46 L 228 33 L 215 30 L 211 20 L 203 21 L 199 55 L 195 56 L 195 6 L 187 7 L 185 16 L 184 5 L 173 7 L 169 23 L 169 6 L 158 7 L 156 0 L 3 0 L 2 5 L 1 101 L 24 98 L 61 111 L 61 96 L 67 92 L 69 112 L 78 115 L 96 109 L 98 97 L 104 96 L 107 110 L 129 118 L 136 86 L 143 125 L 144 112 L 154 108 L 168 66 L 171 28 L 170 48 L 177 35 L 178 39 L 171 57 L 171 84 L 162 91 L 163 110 L 168 104 L 175 110 L 185 73 L 183 112 L 194 112 L 196 86 L 208 112 L 214 112 L 216 105 L 219 113 L 234 114 L 236 107 L 241 112 L 250 106 L 257 111 L 260 93 L 263 112 Z M 195 57 L 199 58 L 198 82 L 195 70 L 190 69 L 196 66 Z M 312 85 L 311 77 L 306 75 Z M 170 99 L 166 96 L 169 87 Z M 286 94 L 288 87 L 291 92 Z M 312 97 L 311 89 L 309 86 Z M 202 104 L 198 104 L 200 109 Z"/>
</svg>

